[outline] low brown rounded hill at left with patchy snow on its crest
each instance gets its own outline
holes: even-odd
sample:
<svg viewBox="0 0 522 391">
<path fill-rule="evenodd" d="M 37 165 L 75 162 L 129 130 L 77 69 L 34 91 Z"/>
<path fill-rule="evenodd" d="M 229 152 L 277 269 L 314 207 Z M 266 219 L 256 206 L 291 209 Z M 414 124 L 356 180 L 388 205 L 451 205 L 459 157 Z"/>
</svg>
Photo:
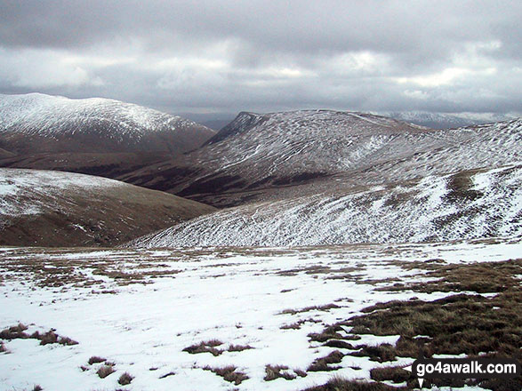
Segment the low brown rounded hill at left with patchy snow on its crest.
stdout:
<svg viewBox="0 0 522 391">
<path fill-rule="evenodd" d="M 3 245 L 114 245 L 213 210 L 116 180 L 0 169 Z"/>
</svg>

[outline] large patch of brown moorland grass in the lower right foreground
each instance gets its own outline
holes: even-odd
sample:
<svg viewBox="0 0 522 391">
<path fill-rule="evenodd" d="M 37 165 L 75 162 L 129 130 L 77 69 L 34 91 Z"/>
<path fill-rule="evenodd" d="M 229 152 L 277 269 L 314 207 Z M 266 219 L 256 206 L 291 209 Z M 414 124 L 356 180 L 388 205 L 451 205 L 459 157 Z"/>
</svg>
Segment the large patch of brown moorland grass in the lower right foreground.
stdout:
<svg viewBox="0 0 522 391">
<path fill-rule="evenodd" d="M 416 358 L 421 352 L 432 355 L 486 355 L 489 357 L 522 358 L 522 260 L 476 263 L 471 265 L 430 264 L 429 276 L 437 276 L 437 281 L 412 283 L 393 290 L 412 289 L 414 291 L 475 291 L 496 293 L 493 297 L 479 294 L 461 293 L 434 301 L 411 299 L 378 303 L 363 310 L 364 315 L 349 318 L 325 328 L 322 333 L 309 335 L 318 342 L 339 344 L 346 337 L 339 332 L 340 326 L 352 327 L 352 334 L 399 335 L 395 346 L 381 344 L 377 347 L 360 345 L 357 352 L 349 355 L 368 356 L 384 362 L 398 356 Z M 422 337 L 419 337 L 422 336 Z M 339 341 L 339 342 L 337 342 Z M 407 373 L 407 372 L 406 372 Z M 373 370 L 372 379 L 378 381 L 402 382 L 406 373 L 400 368 Z M 408 389 L 414 387 L 412 379 Z M 352 384 L 337 380 L 333 386 L 325 385 L 317 390 L 330 389 L 383 389 L 384 385 Z M 462 387 L 464 384 L 479 386 L 496 391 L 522 389 L 522 379 L 478 379 L 434 380 L 438 387 Z M 355 387 L 355 388 L 354 388 Z M 362 387 L 362 388 L 361 388 Z M 367 388 L 369 387 L 369 388 Z M 311 388 L 316 389 L 316 388 Z M 310 389 L 310 390 L 311 390 Z M 384 388 L 386 389 L 386 388 Z"/>
</svg>

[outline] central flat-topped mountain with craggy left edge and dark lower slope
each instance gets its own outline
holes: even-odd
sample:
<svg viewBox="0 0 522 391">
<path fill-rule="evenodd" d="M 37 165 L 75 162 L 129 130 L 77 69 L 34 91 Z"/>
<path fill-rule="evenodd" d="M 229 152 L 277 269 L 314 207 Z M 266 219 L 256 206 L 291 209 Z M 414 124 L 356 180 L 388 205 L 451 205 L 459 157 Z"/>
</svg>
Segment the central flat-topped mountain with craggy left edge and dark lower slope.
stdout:
<svg viewBox="0 0 522 391">
<path fill-rule="evenodd" d="M 330 110 L 240 113 L 205 146 L 171 162 L 121 177 L 133 184 L 205 199 L 216 194 L 282 188 L 328 178 L 365 164 L 389 140 L 433 132 L 381 116 Z M 247 195 L 248 196 L 248 195 Z"/>
</svg>

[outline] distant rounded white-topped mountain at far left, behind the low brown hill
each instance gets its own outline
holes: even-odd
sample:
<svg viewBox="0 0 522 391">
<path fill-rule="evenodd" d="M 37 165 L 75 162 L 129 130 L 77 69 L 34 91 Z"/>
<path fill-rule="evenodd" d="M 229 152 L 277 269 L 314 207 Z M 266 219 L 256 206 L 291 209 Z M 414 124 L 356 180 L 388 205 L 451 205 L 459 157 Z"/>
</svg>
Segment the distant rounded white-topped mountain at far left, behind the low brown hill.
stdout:
<svg viewBox="0 0 522 391">
<path fill-rule="evenodd" d="M 214 133 L 117 100 L 0 95 L 1 167 L 114 178 L 198 148 Z"/>
</svg>

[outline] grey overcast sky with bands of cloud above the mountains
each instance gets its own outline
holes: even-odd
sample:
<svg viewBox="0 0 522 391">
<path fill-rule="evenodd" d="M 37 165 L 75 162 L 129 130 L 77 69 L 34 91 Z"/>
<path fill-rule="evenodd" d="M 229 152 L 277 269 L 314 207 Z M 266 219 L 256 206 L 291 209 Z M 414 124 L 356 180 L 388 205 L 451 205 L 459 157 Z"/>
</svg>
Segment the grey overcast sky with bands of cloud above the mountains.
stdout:
<svg viewBox="0 0 522 391">
<path fill-rule="evenodd" d="M 520 0 L 0 0 L 0 93 L 520 113 L 521 20 Z"/>
</svg>

